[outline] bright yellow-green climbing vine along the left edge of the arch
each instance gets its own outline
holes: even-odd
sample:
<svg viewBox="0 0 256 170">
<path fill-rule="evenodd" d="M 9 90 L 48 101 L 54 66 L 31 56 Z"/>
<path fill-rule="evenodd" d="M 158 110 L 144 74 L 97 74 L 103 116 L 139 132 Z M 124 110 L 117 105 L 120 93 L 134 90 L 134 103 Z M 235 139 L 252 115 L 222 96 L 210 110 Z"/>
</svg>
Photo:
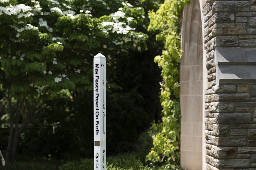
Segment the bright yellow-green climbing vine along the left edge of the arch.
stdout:
<svg viewBox="0 0 256 170">
<path fill-rule="evenodd" d="M 165 50 L 155 62 L 162 69 L 162 123 L 153 123 L 153 145 L 146 160 L 154 163 L 180 162 L 180 14 L 189 0 L 165 0 L 158 11 L 149 12 L 149 31 L 160 31 L 156 40 L 164 41 Z"/>
</svg>

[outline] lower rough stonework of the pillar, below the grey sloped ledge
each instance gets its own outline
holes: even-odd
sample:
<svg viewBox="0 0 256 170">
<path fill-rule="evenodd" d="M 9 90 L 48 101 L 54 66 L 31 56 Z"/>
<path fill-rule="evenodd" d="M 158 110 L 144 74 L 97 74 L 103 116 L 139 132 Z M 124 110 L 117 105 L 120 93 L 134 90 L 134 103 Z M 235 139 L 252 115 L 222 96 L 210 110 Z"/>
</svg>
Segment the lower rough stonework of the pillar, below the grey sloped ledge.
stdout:
<svg viewBox="0 0 256 170">
<path fill-rule="evenodd" d="M 256 85 L 213 86 L 205 108 L 207 169 L 256 168 Z"/>
</svg>

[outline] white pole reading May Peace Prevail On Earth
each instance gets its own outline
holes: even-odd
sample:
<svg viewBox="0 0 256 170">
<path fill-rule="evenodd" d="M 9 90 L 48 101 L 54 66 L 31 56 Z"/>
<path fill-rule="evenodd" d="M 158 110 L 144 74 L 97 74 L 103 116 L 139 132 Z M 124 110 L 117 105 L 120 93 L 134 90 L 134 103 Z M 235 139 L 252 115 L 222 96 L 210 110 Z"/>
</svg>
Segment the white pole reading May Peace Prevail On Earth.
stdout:
<svg viewBox="0 0 256 170">
<path fill-rule="evenodd" d="M 106 170 L 106 57 L 94 56 L 94 170 Z"/>
</svg>

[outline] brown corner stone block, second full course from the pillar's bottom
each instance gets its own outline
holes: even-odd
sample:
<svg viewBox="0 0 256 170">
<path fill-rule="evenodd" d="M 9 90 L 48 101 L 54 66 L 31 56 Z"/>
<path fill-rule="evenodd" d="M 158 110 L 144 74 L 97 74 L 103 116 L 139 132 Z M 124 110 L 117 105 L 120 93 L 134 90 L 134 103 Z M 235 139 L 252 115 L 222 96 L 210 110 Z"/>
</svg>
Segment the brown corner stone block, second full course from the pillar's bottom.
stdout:
<svg viewBox="0 0 256 170">
<path fill-rule="evenodd" d="M 217 147 L 212 146 L 212 155 L 217 158 L 236 158 L 236 151 L 235 147 Z"/>
</svg>

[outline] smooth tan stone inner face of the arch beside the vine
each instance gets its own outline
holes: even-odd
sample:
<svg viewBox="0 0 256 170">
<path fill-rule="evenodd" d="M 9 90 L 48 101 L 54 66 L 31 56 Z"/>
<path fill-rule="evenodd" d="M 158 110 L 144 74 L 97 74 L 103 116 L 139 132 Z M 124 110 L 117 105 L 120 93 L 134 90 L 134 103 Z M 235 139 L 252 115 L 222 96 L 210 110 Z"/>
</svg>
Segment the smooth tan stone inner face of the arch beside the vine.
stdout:
<svg viewBox="0 0 256 170">
<path fill-rule="evenodd" d="M 199 0 L 183 10 L 180 81 L 181 81 L 181 168 L 201 170 L 203 124 L 203 32 Z M 204 157 L 204 159 L 203 159 Z"/>
</svg>

